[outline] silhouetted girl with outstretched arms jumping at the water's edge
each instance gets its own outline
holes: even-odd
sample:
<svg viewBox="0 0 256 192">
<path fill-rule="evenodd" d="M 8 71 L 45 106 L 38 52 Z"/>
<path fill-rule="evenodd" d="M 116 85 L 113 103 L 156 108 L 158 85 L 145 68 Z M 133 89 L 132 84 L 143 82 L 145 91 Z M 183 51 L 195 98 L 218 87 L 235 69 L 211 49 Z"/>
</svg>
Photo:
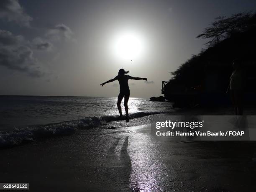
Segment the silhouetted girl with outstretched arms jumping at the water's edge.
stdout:
<svg viewBox="0 0 256 192">
<path fill-rule="evenodd" d="M 110 79 L 107 82 L 100 84 L 100 85 L 103 86 L 106 83 L 110 83 L 110 82 L 113 82 L 115 80 L 118 80 L 119 85 L 120 85 L 120 93 L 118 95 L 117 106 L 118 106 L 118 111 L 119 111 L 120 117 L 123 117 L 123 115 L 122 115 L 122 108 L 121 108 L 121 101 L 123 100 L 123 97 L 125 97 L 124 106 L 125 106 L 126 122 L 129 122 L 128 100 L 129 100 L 129 97 L 130 97 L 130 89 L 129 89 L 129 85 L 128 85 L 128 80 L 129 79 L 146 80 L 146 81 L 148 80 L 147 78 L 131 77 L 129 75 L 125 75 L 128 72 L 129 71 L 125 72 L 124 69 L 120 69 L 119 72 L 118 72 L 118 76 L 116 76 L 114 79 Z"/>
</svg>

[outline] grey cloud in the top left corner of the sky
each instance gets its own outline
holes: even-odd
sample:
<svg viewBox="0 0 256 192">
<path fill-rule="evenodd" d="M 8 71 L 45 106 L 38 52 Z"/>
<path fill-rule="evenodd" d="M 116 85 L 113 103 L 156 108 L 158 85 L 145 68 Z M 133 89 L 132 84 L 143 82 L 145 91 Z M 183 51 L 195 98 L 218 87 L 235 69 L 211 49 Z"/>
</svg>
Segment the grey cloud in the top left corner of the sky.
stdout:
<svg viewBox="0 0 256 192">
<path fill-rule="evenodd" d="M 30 26 L 30 22 L 33 20 L 31 16 L 24 12 L 18 0 L 0 0 L 0 18 L 27 27 Z"/>
</svg>

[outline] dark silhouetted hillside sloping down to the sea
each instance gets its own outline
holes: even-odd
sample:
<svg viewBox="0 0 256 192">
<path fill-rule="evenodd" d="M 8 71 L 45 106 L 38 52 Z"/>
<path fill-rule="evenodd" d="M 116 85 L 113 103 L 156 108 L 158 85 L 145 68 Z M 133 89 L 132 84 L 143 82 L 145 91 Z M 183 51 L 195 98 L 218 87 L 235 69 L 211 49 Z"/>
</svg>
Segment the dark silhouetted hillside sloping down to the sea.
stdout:
<svg viewBox="0 0 256 192">
<path fill-rule="evenodd" d="M 251 17 L 254 18 L 255 14 Z M 174 77 L 165 87 L 165 97 L 174 100 L 177 93 L 225 94 L 234 59 L 241 62 L 246 72 L 246 92 L 256 92 L 256 25 L 233 32 L 200 54 L 192 56 L 172 72 Z"/>
</svg>

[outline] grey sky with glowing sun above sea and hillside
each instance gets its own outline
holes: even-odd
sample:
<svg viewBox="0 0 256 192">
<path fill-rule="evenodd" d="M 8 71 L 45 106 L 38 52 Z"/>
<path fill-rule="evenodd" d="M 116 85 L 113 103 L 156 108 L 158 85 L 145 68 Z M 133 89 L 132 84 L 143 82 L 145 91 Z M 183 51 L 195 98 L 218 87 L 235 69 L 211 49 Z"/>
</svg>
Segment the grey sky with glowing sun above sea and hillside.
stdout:
<svg viewBox="0 0 256 192">
<path fill-rule="evenodd" d="M 256 10 L 255 0 L 1 0 L 0 95 L 161 94 L 161 81 L 205 48 L 195 38 L 218 16 Z M 132 60 L 132 61 L 131 61 Z"/>
</svg>

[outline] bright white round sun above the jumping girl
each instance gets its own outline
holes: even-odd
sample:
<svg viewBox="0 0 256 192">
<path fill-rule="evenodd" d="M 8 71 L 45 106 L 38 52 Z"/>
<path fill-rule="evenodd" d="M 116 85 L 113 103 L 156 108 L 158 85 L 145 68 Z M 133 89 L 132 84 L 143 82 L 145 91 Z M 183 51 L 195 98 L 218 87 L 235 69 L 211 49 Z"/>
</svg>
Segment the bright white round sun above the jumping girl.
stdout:
<svg viewBox="0 0 256 192">
<path fill-rule="evenodd" d="M 118 33 L 111 41 L 111 51 L 118 59 L 133 61 L 145 51 L 144 38 L 136 32 Z"/>
</svg>

